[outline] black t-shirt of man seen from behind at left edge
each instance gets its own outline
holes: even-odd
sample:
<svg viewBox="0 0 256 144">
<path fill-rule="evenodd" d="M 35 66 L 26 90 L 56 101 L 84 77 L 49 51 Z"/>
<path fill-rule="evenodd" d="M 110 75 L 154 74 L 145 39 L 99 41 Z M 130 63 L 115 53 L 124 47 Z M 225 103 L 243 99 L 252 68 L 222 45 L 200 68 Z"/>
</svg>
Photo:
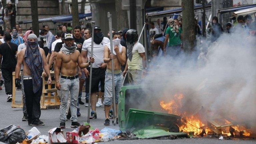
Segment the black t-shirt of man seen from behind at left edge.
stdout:
<svg viewBox="0 0 256 144">
<path fill-rule="evenodd" d="M 12 50 L 8 46 L 11 46 Z M 16 51 L 18 50 L 18 45 L 14 43 L 3 43 L 0 45 L 0 54 L 3 57 L 1 68 L 14 68 L 16 67 L 17 61 L 15 58 Z"/>
</svg>

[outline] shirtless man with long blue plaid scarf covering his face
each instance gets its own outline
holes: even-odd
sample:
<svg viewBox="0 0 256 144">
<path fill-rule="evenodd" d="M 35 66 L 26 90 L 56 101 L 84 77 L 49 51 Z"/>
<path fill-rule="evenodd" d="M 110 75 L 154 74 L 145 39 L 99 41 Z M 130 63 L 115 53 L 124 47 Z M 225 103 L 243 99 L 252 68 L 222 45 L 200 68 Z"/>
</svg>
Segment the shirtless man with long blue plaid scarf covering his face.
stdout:
<svg viewBox="0 0 256 144">
<path fill-rule="evenodd" d="M 19 84 L 19 73 L 23 65 L 23 85 L 26 97 L 26 108 L 28 114 L 28 125 L 45 125 L 39 120 L 41 115 L 40 100 L 43 89 L 42 73 L 45 70 L 48 81 L 51 83 L 51 76 L 44 50 L 38 47 L 37 36 L 29 34 L 27 47 L 20 51 L 15 69 L 15 84 Z"/>
</svg>

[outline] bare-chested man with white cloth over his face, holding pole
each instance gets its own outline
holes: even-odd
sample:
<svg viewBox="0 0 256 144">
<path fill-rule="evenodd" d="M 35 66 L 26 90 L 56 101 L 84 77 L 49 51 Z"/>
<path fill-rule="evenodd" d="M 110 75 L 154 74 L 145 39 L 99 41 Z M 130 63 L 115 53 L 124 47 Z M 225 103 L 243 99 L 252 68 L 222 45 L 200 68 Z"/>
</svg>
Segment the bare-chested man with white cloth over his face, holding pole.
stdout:
<svg viewBox="0 0 256 144">
<path fill-rule="evenodd" d="M 104 110 L 105 110 L 105 123 L 109 125 L 109 110 L 113 100 L 113 83 L 112 83 L 112 63 L 114 60 L 114 83 L 115 83 L 115 102 L 116 102 L 116 115 L 117 115 L 117 103 L 119 98 L 119 92 L 123 86 L 123 75 L 121 71 L 121 65 L 125 64 L 126 61 L 126 49 L 120 44 L 121 34 L 114 32 L 113 35 L 113 54 L 110 51 L 110 42 L 104 47 L 104 62 L 107 63 L 107 70 L 105 74 L 105 94 L 104 94 Z M 118 123 L 118 122 L 117 122 Z"/>
</svg>

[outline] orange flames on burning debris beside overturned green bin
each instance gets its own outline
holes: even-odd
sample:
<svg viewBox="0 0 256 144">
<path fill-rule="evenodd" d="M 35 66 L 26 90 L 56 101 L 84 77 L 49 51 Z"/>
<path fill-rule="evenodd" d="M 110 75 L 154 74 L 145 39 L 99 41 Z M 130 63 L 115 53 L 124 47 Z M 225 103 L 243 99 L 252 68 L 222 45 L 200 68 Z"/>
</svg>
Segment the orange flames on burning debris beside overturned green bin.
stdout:
<svg viewBox="0 0 256 144">
<path fill-rule="evenodd" d="M 202 121 L 195 117 L 195 116 L 189 116 L 186 115 L 186 112 L 182 112 L 182 99 L 183 94 L 175 94 L 172 98 L 172 100 L 168 103 L 164 101 L 160 101 L 160 106 L 162 110 L 168 111 L 169 114 L 175 114 L 181 116 L 181 125 L 179 126 L 179 130 L 183 132 L 194 132 L 194 135 L 204 135 L 212 132 L 210 129 L 205 128 L 205 125 L 202 123 Z M 225 120 L 225 124 L 231 124 L 228 120 Z M 246 129 L 242 126 L 232 126 L 232 128 L 235 129 L 234 135 L 235 136 L 250 136 L 250 131 L 246 131 Z M 204 130 L 204 131 L 203 131 Z M 229 132 L 229 127 L 222 129 L 222 134 L 231 136 L 231 133 Z"/>
</svg>

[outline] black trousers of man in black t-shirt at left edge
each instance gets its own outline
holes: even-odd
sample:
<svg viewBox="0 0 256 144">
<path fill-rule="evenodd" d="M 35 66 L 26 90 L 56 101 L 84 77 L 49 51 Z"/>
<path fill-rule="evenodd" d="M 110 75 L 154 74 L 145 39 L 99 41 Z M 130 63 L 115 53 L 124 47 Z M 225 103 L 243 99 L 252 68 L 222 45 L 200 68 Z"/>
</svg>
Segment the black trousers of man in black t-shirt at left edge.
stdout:
<svg viewBox="0 0 256 144">
<path fill-rule="evenodd" d="M 12 72 L 15 71 L 15 68 L 1 68 L 1 70 L 4 78 L 5 93 L 12 94 Z"/>
</svg>

